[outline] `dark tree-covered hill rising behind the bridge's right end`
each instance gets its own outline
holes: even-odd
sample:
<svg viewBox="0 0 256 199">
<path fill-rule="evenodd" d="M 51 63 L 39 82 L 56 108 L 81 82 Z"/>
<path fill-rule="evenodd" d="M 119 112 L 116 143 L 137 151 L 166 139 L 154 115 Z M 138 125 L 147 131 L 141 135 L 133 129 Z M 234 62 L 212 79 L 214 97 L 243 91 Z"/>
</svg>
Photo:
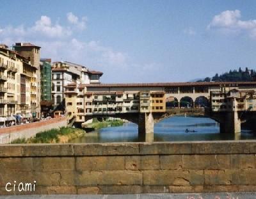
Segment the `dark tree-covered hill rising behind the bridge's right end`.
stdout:
<svg viewBox="0 0 256 199">
<path fill-rule="evenodd" d="M 209 81 L 254 81 L 256 76 L 255 70 L 249 70 L 247 67 L 243 71 L 241 68 L 239 70 L 230 70 L 229 72 L 225 72 L 220 76 L 216 74 L 214 77 L 206 77 L 204 80 L 199 80 L 198 82 L 209 82 Z"/>
</svg>

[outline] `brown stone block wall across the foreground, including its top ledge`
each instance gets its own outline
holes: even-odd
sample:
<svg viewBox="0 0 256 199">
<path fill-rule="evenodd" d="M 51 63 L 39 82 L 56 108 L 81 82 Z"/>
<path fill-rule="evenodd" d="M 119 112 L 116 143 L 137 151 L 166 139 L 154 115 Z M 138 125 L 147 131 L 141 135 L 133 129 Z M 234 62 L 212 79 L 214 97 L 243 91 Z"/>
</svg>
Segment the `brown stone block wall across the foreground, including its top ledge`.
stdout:
<svg viewBox="0 0 256 199">
<path fill-rule="evenodd" d="M 0 146 L 0 195 L 256 191 L 256 141 Z M 35 192 L 7 192 L 7 182 Z"/>
</svg>

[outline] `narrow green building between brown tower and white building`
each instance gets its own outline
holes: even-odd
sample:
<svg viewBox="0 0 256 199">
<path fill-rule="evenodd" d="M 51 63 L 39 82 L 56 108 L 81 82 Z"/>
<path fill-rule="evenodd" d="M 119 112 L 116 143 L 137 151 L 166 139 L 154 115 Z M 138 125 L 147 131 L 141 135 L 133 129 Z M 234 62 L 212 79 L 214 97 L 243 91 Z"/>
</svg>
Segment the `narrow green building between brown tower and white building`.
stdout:
<svg viewBox="0 0 256 199">
<path fill-rule="evenodd" d="M 40 60 L 41 74 L 41 111 L 42 116 L 46 117 L 51 114 L 52 108 L 52 68 L 51 59 Z"/>
</svg>

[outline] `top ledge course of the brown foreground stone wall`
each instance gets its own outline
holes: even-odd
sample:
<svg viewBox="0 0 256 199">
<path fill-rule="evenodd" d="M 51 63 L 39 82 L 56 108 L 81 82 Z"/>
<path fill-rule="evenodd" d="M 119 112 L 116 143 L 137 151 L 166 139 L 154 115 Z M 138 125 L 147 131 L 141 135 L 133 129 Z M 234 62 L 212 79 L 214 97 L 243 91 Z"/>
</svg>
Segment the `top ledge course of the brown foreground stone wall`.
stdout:
<svg viewBox="0 0 256 199">
<path fill-rule="evenodd" d="M 256 141 L 241 140 L 183 141 L 157 143 L 78 143 L 0 145 L 0 157 L 157 154 L 256 154 Z"/>
</svg>

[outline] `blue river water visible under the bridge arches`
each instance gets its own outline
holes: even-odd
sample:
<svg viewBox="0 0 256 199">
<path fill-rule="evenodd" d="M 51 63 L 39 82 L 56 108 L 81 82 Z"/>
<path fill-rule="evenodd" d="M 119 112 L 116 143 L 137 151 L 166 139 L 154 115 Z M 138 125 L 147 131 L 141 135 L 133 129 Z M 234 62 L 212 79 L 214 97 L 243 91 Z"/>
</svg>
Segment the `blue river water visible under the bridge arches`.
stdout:
<svg viewBox="0 0 256 199">
<path fill-rule="evenodd" d="M 186 129 L 195 132 L 185 132 Z M 198 116 L 173 116 L 166 118 L 154 126 L 154 141 L 203 141 L 256 139 L 256 133 L 242 130 L 241 134 L 220 134 L 219 124 L 210 118 Z M 138 125 L 124 123 L 120 127 L 107 127 L 99 131 L 86 133 L 70 143 L 108 143 L 136 142 Z"/>
</svg>

